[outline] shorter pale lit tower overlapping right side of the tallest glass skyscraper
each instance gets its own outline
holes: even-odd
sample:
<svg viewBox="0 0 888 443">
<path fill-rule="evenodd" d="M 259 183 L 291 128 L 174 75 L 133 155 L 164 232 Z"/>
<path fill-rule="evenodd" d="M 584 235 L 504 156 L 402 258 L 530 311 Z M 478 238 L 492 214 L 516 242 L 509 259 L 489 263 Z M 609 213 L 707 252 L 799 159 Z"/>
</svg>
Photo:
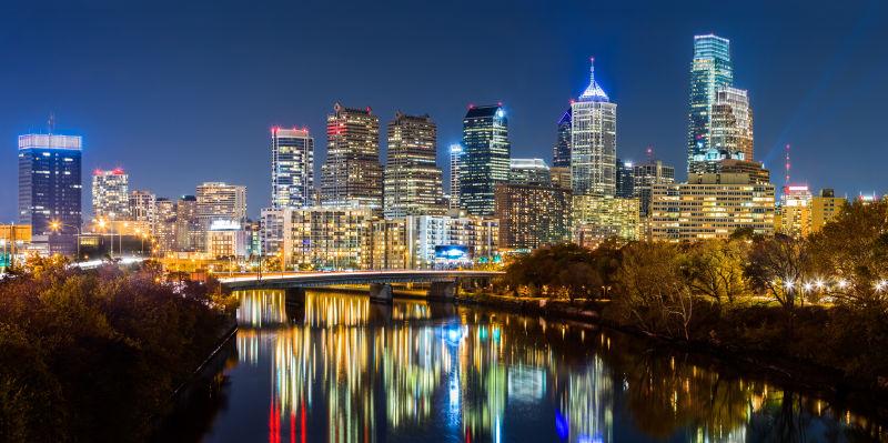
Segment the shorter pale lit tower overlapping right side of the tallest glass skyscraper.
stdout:
<svg viewBox="0 0 888 443">
<path fill-rule="evenodd" d="M 753 109 L 745 90 L 716 88 L 710 127 L 710 149 L 741 152 L 741 160 L 753 161 Z"/>
</svg>

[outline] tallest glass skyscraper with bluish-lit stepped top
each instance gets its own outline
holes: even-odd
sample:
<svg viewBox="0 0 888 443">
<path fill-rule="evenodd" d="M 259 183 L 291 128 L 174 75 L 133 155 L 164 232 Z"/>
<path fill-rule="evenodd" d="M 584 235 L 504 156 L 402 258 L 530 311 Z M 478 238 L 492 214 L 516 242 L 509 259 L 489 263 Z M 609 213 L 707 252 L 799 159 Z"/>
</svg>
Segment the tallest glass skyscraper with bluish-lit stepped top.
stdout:
<svg viewBox="0 0 888 443">
<path fill-rule="evenodd" d="M 690 64 L 690 98 L 687 131 L 688 171 L 694 155 L 712 147 L 710 129 L 716 90 L 734 84 L 730 41 L 718 36 L 694 36 L 694 60 Z"/>
</svg>

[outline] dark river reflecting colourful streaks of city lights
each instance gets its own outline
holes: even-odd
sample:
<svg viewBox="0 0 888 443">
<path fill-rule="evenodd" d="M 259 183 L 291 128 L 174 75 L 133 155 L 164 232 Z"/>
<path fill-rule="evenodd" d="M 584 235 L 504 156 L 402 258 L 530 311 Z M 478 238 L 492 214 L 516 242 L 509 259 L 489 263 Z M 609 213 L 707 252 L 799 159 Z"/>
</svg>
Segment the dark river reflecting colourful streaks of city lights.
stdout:
<svg viewBox="0 0 888 443">
<path fill-rule="evenodd" d="M 241 293 L 204 442 L 857 442 L 880 423 L 588 325 Z M 696 360 L 695 360 L 696 359 Z"/>
</svg>

